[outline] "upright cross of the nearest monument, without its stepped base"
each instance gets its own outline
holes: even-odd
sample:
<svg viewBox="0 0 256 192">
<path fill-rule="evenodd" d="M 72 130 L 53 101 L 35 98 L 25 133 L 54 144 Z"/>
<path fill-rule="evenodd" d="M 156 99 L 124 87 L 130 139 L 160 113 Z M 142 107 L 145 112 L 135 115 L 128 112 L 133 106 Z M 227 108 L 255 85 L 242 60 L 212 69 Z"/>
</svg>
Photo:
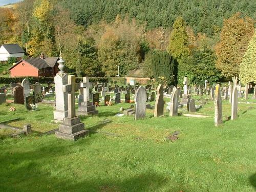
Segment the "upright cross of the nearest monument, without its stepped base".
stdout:
<svg viewBox="0 0 256 192">
<path fill-rule="evenodd" d="M 68 76 L 68 84 L 62 86 L 63 92 L 68 92 L 68 117 L 73 118 L 76 116 L 75 109 L 75 92 L 80 89 L 80 84 L 76 83 L 76 76 Z"/>
</svg>

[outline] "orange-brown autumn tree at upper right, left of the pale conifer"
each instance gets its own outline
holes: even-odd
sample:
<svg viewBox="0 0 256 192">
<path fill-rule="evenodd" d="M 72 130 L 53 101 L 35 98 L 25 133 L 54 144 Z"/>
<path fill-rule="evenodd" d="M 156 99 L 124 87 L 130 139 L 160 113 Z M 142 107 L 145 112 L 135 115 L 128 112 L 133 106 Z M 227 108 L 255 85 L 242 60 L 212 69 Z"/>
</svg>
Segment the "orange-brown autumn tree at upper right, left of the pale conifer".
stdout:
<svg viewBox="0 0 256 192">
<path fill-rule="evenodd" d="M 240 63 L 253 30 L 253 20 L 249 17 L 242 18 L 240 13 L 224 19 L 220 42 L 215 48 L 216 67 L 226 77 L 236 77 L 233 80 L 235 84 L 239 75 Z"/>
</svg>

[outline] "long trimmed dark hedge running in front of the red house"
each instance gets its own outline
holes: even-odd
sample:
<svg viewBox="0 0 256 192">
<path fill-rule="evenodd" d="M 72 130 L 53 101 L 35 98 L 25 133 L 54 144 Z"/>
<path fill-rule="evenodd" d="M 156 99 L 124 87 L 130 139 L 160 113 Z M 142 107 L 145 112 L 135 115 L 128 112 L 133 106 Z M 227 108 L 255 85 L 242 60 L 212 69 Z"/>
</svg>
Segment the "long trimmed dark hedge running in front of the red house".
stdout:
<svg viewBox="0 0 256 192">
<path fill-rule="evenodd" d="M 24 78 L 28 78 L 31 84 L 35 82 L 40 83 L 54 83 L 54 77 L 0 77 L 0 83 L 8 84 L 8 83 L 17 83 L 22 82 Z M 89 77 L 90 82 L 112 82 L 112 83 L 121 83 L 125 84 L 124 77 Z M 82 81 L 82 77 L 76 77 L 76 82 Z"/>
</svg>

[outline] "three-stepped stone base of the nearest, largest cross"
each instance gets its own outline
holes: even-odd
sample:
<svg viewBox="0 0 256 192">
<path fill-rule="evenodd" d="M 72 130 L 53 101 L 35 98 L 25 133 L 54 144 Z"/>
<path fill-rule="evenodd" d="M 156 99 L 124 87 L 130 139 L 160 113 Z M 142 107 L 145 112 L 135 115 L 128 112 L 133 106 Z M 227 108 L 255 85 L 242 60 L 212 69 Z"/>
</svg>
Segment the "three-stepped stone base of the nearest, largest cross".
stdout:
<svg viewBox="0 0 256 192">
<path fill-rule="evenodd" d="M 80 122 L 80 117 L 63 118 L 63 124 L 59 126 L 59 131 L 55 132 L 56 137 L 73 141 L 88 134 L 89 130 L 84 130 L 84 123 Z"/>
</svg>

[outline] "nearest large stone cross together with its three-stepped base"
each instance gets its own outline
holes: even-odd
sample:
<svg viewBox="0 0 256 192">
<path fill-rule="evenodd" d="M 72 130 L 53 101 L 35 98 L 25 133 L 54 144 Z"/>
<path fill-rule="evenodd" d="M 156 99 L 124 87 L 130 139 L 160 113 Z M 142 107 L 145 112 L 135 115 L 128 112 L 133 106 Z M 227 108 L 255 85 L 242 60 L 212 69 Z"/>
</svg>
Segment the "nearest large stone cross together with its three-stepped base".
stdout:
<svg viewBox="0 0 256 192">
<path fill-rule="evenodd" d="M 68 93 L 68 117 L 63 118 L 63 124 L 60 124 L 59 131 L 55 132 L 56 137 L 62 139 L 77 140 L 89 131 L 84 130 L 84 123 L 80 122 L 80 117 L 76 116 L 75 111 L 75 92 L 80 88 L 76 83 L 75 75 L 68 76 L 68 84 L 63 85 L 63 92 Z"/>
</svg>

